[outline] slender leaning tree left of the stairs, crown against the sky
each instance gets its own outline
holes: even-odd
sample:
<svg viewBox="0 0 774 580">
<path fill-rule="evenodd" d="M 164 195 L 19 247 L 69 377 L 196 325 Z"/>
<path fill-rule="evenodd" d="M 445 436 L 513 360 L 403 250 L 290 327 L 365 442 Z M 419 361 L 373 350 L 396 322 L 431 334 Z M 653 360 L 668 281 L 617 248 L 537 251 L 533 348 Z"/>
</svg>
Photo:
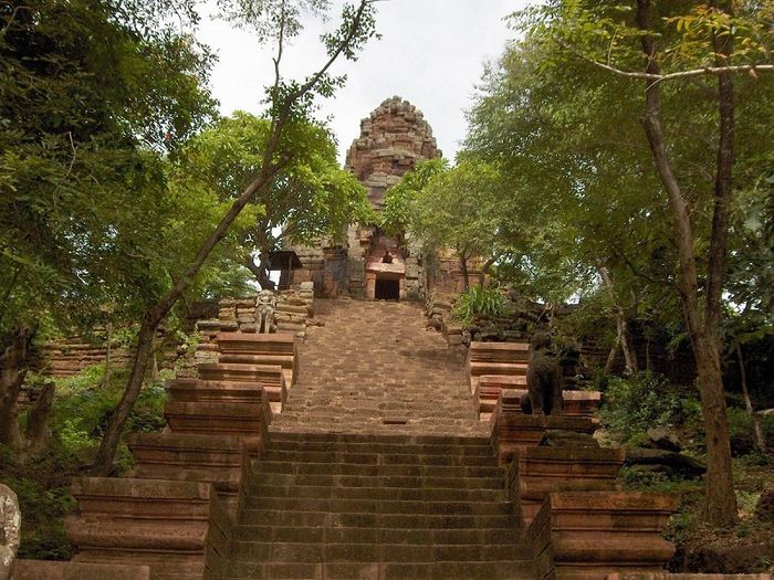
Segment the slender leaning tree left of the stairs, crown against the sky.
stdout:
<svg viewBox="0 0 774 580">
<path fill-rule="evenodd" d="M 268 88 L 268 117 L 270 128 L 261 147 L 263 157 L 255 168 L 253 180 L 241 192 L 234 192 L 231 208 L 218 226 L 201 243 L 196 255 L 182 270 L 171 289 L 148 308 L 143 315 L 137 350 L 132 362 L 129 378 L 111 421 L 105 429 L 100 450 L 94 461 L 93 473 L 105 475 L 109 472 L 121 434 L 127 418 L 139 396 L 143 378 L 150 357 L 153 336 L 158 325 L 169 314 L 178 299 L 191 285 L 212 250 L 226 236 L 229 228 L 257 193 L 271 187 L 274 178 L 295 158 L 294 136 L 301 125 L 305 125 L 315 95 L 330 96 L 344 78 L 330 74 L 333 64 L 339 59 L 354 60 L 360 48 L 375 32 L 375 8 L 373 0 L 360 0 L 357 6 L 345 4 L 337 30 L 323 35 L 327 59 L 303 81 L 286 81 L 281 75 L 281 62 L 285 42 L 301 31 L 300 14 L 304 9 L 320 10 L 327 2 L 323 0 L 223 0 L 224 14 L 237 19 L 255 30 L 258 38 L 273 41 L 276 46 L 274 57 L 274 83 Z"/>
</svg>

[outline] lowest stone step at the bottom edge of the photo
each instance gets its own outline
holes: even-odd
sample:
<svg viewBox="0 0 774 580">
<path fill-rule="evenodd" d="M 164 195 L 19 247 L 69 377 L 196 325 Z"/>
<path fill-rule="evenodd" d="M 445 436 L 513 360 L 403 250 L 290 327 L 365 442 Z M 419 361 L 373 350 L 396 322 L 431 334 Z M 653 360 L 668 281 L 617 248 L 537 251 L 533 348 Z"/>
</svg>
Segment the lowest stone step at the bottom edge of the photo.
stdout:
<svg viewBox="0 0 774 580">
<path fill-rule="evenodd" d="M 228 580 L 534 580 L 531 562 L 234 562 Z"/>
</svg>

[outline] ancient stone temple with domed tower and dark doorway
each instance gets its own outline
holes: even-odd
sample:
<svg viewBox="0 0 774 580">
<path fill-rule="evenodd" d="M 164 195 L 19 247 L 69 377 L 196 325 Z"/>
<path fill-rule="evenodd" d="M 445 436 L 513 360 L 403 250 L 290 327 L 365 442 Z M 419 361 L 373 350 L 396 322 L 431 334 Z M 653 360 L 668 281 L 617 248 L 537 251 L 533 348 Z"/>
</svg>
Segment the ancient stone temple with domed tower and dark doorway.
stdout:
<svg viewBox="0 0 774 580">
<path fill-rule="evenodd" d="M 418 161 L 441 151 L 422 113 L 395 96 L 360 122 L 360 136 L 347 152 L 346 168 L 368 190 L 379 210 L 387 189 Z M 318 297 L 348 294 L 366 299 L 419 299 L 427 289 L 428 272 L 421 246 L 410 235 L 389 236 L 373 225 L 352 224 L 343 245 L 293 247 L 302 268 L 293 282 L 312 281 Z"/>
</svg>

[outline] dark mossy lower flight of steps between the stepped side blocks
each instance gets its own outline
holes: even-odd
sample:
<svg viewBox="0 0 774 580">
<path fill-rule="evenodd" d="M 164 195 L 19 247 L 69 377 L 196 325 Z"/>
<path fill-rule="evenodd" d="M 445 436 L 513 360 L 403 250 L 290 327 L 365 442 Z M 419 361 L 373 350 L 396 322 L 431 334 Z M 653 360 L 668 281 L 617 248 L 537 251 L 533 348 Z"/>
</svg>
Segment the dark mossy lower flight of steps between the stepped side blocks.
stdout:
<svg viewBox="0 0 774 580">
<path fill-rule="evenodd" d="M 532 579 L 488 439 L 272 433 L 230 580 Z"/>
</svg>

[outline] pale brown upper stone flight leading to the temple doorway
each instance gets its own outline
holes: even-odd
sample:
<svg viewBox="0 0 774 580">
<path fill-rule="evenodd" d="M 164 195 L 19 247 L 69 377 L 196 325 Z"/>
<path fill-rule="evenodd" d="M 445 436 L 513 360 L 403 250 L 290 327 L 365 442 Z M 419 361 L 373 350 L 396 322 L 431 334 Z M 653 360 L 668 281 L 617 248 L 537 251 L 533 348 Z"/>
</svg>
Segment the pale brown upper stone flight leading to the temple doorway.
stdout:
<svg viewBox="0 0 774 580">
<path fill-rule="evenodd" d="M 487 435 L 464 360 L 426 330 L 418 305 L 315 300 L 297 384 L 272 431 Z"/>
</svg>

